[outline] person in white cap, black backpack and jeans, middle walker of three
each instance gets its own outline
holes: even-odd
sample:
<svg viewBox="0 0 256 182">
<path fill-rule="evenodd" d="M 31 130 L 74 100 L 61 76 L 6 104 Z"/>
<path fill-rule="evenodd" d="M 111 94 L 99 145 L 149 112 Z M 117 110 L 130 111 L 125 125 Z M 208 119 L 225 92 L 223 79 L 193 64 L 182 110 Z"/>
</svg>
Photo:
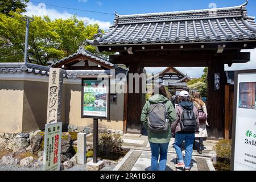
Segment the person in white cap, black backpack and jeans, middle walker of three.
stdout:
<svg viewBox="0 0 256 182">
<path fill-rule="evenodd" d="M 199 118 L 197 109 L 194 107 L 189 93 L 181 91 L 177 98 L 179 103 L 176 107 L 177 119 L 171 125 L 171 131 L 175 134 L 174 148 L 177 154 L 176 168 L 183 168 L 189 171 L 193 154 L 193 142 L 195 133 L 199 131 Z M 185 158 L 183 160 L 181 145 L 185 141 Z"/>
</svg>

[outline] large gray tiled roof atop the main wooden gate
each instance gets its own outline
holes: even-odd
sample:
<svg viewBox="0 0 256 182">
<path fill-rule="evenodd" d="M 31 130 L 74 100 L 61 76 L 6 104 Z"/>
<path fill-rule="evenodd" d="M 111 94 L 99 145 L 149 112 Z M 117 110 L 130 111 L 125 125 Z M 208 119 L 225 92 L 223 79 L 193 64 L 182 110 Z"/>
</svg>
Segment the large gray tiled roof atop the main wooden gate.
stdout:
<svg viewBox="0 0 256 182">
<path fill-rule="evenodd" d="M 170 13 L 117 15 L 105 35 L 86 40 L 96 46 L 255 40 L 255 18 L 246 4 Z"/>
</svg>

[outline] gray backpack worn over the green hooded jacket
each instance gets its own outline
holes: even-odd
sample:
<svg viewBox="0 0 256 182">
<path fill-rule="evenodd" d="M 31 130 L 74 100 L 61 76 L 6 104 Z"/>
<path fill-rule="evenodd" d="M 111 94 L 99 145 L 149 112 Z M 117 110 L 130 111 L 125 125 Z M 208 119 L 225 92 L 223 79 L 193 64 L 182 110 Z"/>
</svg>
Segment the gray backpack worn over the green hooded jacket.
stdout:
<svg viewBox="0 0 256 182">
<path fill-rule="evenodd" d="M 164 133 L 168 130 L 169 116 L 165 104 L 152 104 L 148 113 L 148 130 L 152 133 Z"/>
</svg>

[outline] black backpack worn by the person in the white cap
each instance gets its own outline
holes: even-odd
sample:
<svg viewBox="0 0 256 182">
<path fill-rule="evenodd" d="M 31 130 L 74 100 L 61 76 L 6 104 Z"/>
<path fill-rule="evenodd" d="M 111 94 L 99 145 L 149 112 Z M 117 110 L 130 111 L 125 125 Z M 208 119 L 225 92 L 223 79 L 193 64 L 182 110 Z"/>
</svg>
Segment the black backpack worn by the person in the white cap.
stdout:
<svg viewBox="0 0 256 182">
<path fill-rule="evenodd" d="M 179 105 L 180 106 L 180 105 Z M 181 107 L 181 106 L 180 106 Z M 181 131 L 191 132 L 196 131 L 196 116 L 192 110 L 183 109 L 183 112 L 180 117 L 180 127 Z"/>
</svg>

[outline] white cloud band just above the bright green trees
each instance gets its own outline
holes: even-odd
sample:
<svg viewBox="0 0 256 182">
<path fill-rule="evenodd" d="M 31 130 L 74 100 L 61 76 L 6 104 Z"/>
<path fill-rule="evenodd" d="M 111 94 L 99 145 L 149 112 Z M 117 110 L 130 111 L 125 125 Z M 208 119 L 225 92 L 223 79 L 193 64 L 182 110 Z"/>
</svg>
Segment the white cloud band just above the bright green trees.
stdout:
<svg viewBox="0 0 256 182">
<path fill-rule="evenodd" d="M 32 16 L 32 15 L 36 15 L 36 16 L 45 16 L 48 15 L 50 19 L 68 19 L 71 18 L 71 16 L 73 16 L 72 14 L 68 13 L 67 11 L 57 11 L 55 9 L 48 9 L 46 7 L 46 4 L 44 3 L 39 3 L 38 6 L 33 5 L 31 2 L 27 3 L 27 8 L 26 8 L 27 12 L 23 13 L 24 15 L 28 15 L 28 16 Z M 90 19 L 88 17 L 85 16 L 77 16 L 77 18 L 79 20 L 83 20 L 85 22 L 88 22 L 89 24 L 94 24 L 97 23 L 100 28 L 102 28 L 103 30 L 108 30 L 111 23 L 110 22 L 103 22 L 101 20 L 96 20 L 96 19 Z"/>
</svg>

